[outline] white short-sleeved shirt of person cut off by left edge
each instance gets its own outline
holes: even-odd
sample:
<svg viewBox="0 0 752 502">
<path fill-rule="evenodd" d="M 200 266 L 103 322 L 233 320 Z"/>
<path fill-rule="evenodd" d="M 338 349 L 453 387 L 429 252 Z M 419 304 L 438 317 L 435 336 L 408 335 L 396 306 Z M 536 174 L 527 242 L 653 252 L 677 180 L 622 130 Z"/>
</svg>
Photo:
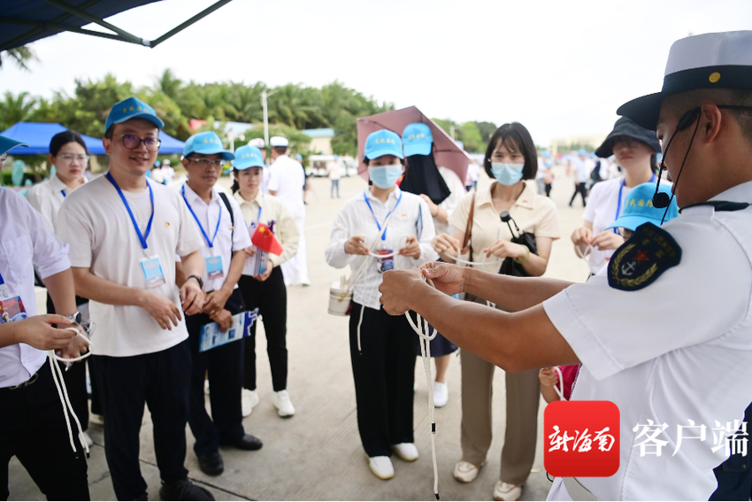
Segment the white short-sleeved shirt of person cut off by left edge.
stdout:
<svg viewBox="0 0 752 502">
<path fill-rule="evenodd" d="M 71 267 L 68 248 L 47 228 L 42 215 L 12 189 L 0 188 L 0 218 L 0 274 L 31 317 L 36 315 L 35 267 L 42 279 L 64 272 Z M 0 348 L 0 389 L 27 382 L 46 357 L 27 344 Z"/>
</svg>

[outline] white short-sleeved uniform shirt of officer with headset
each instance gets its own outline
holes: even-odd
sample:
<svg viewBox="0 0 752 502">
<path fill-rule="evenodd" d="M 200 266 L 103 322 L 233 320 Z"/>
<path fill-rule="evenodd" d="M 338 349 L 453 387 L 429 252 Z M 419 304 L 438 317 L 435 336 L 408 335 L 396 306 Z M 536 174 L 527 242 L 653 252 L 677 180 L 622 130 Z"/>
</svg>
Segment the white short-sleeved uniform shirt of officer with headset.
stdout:
<svg viewBox="0 0 752 502">
<path fill-rule="evenodd" d="M 715 197 L 752 201 L 752 182 Z M 606 269 L 543 303 L 582 362 L 572 400 L 609 400 L 621 417 L 620 466 L 578 478 L 599 500 L 707 500 L 716 490 L 711 429 L 752 403 L 752 208 L 687 209 L 664 225 L 681 261 L 642 290 L 610 288 Z M 638 424 L 667 424 L 662 455 L 641 456 Z M 707 426 L 706 441 L 679 426 Z M 699 429 L 683 436 L 698 436 Z M 729 436 L 730 433 L 724 436 Z M 654 450 L 655 451 L 655 450 Z M 549 501 L 571 501 L 557 479 Z"/>
</svg>

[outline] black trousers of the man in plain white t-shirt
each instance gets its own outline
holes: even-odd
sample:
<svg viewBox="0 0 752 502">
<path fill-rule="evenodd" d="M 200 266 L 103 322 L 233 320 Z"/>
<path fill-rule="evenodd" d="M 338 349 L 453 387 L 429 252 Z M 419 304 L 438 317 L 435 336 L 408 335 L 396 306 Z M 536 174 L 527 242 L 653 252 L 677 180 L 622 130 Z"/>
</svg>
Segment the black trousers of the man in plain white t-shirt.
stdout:
<svg viewBox="0 0 752 502">
<path fill-rule="evenodd" d="M 104 410 L 104 452 L 118 500 L 146 495 L 139 432 L 143 405 L 154 424 L 154 452 L 162 481 L 188 478 L 186 458 L 190 348 L 188 340 L 164 351 L 125 358 L 92 356 Z"/>
</svg>

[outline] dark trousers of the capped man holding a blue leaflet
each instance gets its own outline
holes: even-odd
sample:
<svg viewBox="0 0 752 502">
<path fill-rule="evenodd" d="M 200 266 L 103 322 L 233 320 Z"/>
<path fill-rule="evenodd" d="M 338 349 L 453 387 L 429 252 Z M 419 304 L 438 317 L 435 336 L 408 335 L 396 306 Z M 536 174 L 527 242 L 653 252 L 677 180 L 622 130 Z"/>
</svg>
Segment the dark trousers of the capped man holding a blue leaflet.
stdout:
<svg viewBox="0 0 752 502">
<path fill-rule="evenodd" d="M 227 299 L 225 308 L 233 314 L 242 311 L 239 290 L 234 290 L 233 295 Z M 245 434 L 241 410 L 244 340 L 199 352 L 201 328 L 210 322 L 211 319 L 204 313 L 186 316 L 192 366 L 188 390 L 188 425 L 196 437 L 193 450 L 199 457 L 219 452 L 219 443 L 234 443 Z M 211 417 L 206 413 L 203 395 L 203 381 L 207 371 L 211 389 Z"/>
</svg>

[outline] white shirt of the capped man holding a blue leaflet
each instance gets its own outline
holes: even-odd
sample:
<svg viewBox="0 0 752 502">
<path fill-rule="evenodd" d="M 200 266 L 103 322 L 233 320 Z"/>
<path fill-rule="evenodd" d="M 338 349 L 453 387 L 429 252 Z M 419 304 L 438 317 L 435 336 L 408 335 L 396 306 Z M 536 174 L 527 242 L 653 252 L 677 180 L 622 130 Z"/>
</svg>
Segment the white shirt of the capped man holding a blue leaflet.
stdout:
<svg viewBox="0 0 752 502">
<path fill-rule="evenodd" d="M 248 227 L 243 220 L 242 211 L 240 205 L 238 205 L 235 198 L 231 195 L 227 196 L 227 200 L 230 201 L 230 207 L 233 208 L 234 217 L 234 229 L 232 220 L 230 220 L 230 214 L 227 212 L 227 207 L 222 199 L 219 197 L 219 193 L 216 189 L 211 190 L 211 201 L 207 205 L 203 202 L 201 197 L 196 195 L 188 186 L 188 183 L 183 185 L 185 188 L 185 197 L 188 200 L 190 209 L 196 213 L 196 218 L 201 222 L 203 231 L 209 236 L 209 239 L 214 236 L 214 230 L 217 230 L 217 237 L 214 238 L 213 248 L 209 247 L 209 243 L 201 236 L 203 246 L 201 247 L 201 255 L 203 259 L 210 258 L 212 256 L 222 257 L 222 276 L 216 279 L 210 279 L 206 271 L 205 261 L 203 269 L 203 290 L 208 292 L 220 290 L 225 285 L 227 279 L 227 273 L 230 271 L 230 262 L 233 260 L 233 252 L 241 251 L 249 248 L 250 236 L 248 233 Z M 181 191 L 182 193 L 182 191 Z M 193 216 L 190 216 L 190 220 L 196 225 L 196 229 L 201 233 L 201 229 L 198 228 L 198 224 Z M 238 287 L 237 284 L 234 286 Z"/>
</svg>

